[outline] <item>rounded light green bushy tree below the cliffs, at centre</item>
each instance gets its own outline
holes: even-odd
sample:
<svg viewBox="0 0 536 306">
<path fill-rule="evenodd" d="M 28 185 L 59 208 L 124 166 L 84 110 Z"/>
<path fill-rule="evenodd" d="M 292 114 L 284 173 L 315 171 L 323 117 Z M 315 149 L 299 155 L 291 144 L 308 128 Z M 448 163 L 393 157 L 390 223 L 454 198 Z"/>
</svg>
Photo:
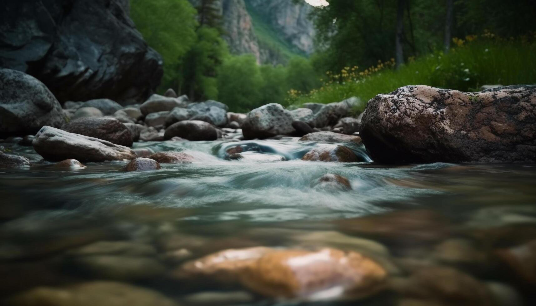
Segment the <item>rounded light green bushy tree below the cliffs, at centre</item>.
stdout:
<svg viewBox="0 0 536 306">
<path fill-rule="evenodd" d="M 262 105 L 260 69 L 252 54 L 229 56 L 218 69 L 218 99 L 232 111 L 249 111 Z"/>
</svg>

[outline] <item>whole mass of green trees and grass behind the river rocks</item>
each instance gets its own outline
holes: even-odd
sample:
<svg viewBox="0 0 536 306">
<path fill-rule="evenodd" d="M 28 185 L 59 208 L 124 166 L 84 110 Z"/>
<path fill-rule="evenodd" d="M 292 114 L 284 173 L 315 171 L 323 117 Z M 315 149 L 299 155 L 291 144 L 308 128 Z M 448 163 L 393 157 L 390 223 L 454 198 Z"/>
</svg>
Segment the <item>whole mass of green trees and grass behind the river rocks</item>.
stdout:
<svg viewBox="0 0 536 306">
<path fill-rule="evenodd" d="M 277 46 L 285 65 L 232 55 L 218 1 L 131 0 L 138 30 L 165 61 L 161 90 L 248 111 L 350 96 L 366 102 L 414 84 L 475 91 L 536 83 L 533 0 L 331 0 L 312 10 L 316 51 L 309 57 L 252 14 L 257 35 Z"/>
</svg>

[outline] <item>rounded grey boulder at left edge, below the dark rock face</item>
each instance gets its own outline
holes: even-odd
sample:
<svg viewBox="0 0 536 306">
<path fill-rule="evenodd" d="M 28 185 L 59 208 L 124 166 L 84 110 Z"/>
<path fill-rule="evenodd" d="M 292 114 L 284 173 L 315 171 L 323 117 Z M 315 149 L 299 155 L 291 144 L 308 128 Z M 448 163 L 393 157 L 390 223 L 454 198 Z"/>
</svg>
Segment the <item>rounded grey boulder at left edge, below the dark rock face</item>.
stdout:
<svg viewBox="0 0 536 306">
<path fill-rule="evenodd" d="M 0 137 L 34 134 L 43 125 L 59 128 L 64 123 L 62 107 L 47 86 L 24 72 L 0 69 Z"/>
</svg>

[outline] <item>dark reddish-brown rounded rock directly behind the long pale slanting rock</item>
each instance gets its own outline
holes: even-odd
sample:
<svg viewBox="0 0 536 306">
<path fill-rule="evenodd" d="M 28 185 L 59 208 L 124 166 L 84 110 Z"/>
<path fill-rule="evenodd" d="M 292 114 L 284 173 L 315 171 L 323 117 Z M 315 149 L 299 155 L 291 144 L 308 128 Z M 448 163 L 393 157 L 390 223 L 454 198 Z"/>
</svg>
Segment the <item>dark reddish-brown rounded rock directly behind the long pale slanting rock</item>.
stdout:
<svg viewBox="0 0 536 306">
<path fill-rule="evenodd" d="M 132 133 L 115 118 L 86 117 L 65 124 L 62 130 L 110 141 L 117 145 L 132 146 Z"/>
</svg>

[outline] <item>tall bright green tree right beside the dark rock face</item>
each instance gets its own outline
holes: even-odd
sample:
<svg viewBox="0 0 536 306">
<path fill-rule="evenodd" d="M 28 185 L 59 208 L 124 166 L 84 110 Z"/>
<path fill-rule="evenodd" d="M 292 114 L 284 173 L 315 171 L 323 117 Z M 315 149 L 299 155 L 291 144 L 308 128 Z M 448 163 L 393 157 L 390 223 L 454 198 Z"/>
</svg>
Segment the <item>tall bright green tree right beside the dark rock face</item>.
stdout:
<svg viewBox="0 0 536 306">
<path fill-rule="evenodd" d="M 187 0 L 131 0 L 130 3 L 136 28 L 163 58 L 160 87 L 177 89 L 179 66 L 197 38 L 196 10 Z"/>
</svg>

